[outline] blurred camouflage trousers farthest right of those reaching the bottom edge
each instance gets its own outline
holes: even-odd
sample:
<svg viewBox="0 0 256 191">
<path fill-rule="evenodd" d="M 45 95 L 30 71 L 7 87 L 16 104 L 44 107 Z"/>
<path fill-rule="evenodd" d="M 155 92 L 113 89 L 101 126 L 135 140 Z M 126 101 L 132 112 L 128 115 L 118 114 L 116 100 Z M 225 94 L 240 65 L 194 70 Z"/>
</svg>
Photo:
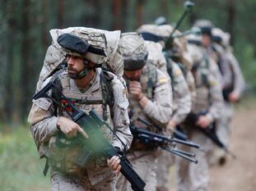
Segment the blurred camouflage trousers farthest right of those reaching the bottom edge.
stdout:
<svg viewBox="0 0 256 191">
<path fill-rule="evenodd" d="M 200 144 L 202 149 L 179 147 L 181 150 L 195 153 L 198 164 L 186 161 L 181 157 L 175 157 L 178 191 L 207 191 L 209 184 L 207 155 L 212 149 L 212 143 L 201 132 L 193 131 L 191 135 L 191 140 Z"/>
</svg>

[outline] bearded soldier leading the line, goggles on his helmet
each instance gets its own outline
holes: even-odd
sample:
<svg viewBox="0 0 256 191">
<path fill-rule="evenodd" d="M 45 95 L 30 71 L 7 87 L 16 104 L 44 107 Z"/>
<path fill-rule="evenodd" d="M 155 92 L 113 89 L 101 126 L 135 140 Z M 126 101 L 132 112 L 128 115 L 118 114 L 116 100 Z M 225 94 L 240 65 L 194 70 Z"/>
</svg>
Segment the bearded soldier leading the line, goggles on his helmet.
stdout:
<svg viewBox="0 0 256 191">
<path fill-rule="evenodd" d="M 94 40 L 96 45 L 92 45 Z M 82 111 L 94 109 L 129 147 L 133 136 L 128 128 L 125 88 L 116 75 L 98 67 L 106 55 L 105 49 L 99 45 L 100 40 L 90 39 L 91 43 L 88 41 L 79 38 L 74 32 L 58 32 L 57 42 L 66 52 L 67 61 L 67 70 L 63 70 L 58 76 L 58 86 Z M 49 79 L 44 84 L 47 81 Z M 108 99 L 109 95 L 103 91 L 103 86 L 108 86 L 113 93 L 112 104 Z M 58 93 L 53 92 L 51 96 L 61 99 Z M 60 102 L 65 104 L 64 100 Z M 79 157 L 77 155 L 81 152 L 81 146 L 60 148 L 55 144 L 58 132 L 63 132 L 67 138 L 76 137 L 78 133 L 87 136 L 61 107 L 54 105 L 48 98 L 33 100 L 28 121 L 40 157 L 48 158 L 52 190 L 115 190 L 116 174 L 121 168 L 119 157 L 107 160 L 104 156 L 94 154 L 85 166 L 79 166 L 75 160 Z M 124 149 L 123 144 L 109 130 L 103 128 L 102 132 L 115 148 L 120 151 Z"/>
</svg>

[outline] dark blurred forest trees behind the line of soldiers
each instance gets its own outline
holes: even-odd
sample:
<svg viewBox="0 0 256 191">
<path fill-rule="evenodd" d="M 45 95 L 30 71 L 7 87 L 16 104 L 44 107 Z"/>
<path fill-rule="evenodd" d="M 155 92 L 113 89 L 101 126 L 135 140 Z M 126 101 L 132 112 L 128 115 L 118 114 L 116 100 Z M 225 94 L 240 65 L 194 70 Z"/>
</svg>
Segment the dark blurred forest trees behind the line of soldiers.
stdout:
<svg viewBox="0 0 256 191">
<path fill-rule="evenodd" d="M 193 13 L 180 30 L 194 20 L 212 20 L 232 34 L 235 56 L 249 87 L 256 87 L 256 1 L 194 0 Z M 1 0 L 0 1 L 0 121 L 25 122 L 31 97 L 50 43 L 49 30 L 68 26 L 134 31 L 139 25 L 165 16 L 175 24 L 184 0 Z"/>
</svg>

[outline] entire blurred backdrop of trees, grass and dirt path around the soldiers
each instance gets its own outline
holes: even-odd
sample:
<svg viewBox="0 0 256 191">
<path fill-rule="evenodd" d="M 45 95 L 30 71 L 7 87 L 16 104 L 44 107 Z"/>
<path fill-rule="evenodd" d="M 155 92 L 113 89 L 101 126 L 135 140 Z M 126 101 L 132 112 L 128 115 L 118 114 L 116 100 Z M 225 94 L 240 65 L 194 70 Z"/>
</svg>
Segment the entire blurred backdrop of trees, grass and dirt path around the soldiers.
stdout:
<svg viewBox="0 0 256 191">
<path fill-rule="evenodd" d="M 238 106 L 242 108 L 234 117 L 235 143 L 231 143 L 239 160 L 213 171 L 216 175 L 212 180 L 216 183 L 210 190 L 253 191 L 256 1 L 193 2 L 196 6 L 179 30 L 189 30 L 197 19 L 208 19 L 230 32 L 235 57 L 247 84 L 244 101 Z M 153 23 L 157 16 L 165 16 L 168 23 L 175 25 L 183 11 L 183 0 L 0 0 L 0 190 L 43 191 L 50 187 L 49 177 L 42 175 L 44 160 L 39 159 L 26 122 L 44 55 L 51 43 L 49 30 L 86 26 L 128 32 Z M 214 187 L 215 184 L 219 187 Z"/>
</svg>

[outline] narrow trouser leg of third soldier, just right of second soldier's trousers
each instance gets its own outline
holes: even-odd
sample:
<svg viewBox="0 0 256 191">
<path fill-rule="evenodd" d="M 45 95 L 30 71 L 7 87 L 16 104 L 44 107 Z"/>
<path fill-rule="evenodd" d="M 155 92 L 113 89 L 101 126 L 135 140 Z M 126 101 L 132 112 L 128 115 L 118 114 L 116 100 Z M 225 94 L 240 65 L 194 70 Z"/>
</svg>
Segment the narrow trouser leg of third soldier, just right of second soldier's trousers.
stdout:
<svg viewBox="0 0 256 191">
<path fill-rule="evenodd" d="M 175 156 L 170 152 L 161 151 L 161 155 L 157 158 L 157 190 L 170 190 L 170 166 L 175 164 Z"/>
</svg>

